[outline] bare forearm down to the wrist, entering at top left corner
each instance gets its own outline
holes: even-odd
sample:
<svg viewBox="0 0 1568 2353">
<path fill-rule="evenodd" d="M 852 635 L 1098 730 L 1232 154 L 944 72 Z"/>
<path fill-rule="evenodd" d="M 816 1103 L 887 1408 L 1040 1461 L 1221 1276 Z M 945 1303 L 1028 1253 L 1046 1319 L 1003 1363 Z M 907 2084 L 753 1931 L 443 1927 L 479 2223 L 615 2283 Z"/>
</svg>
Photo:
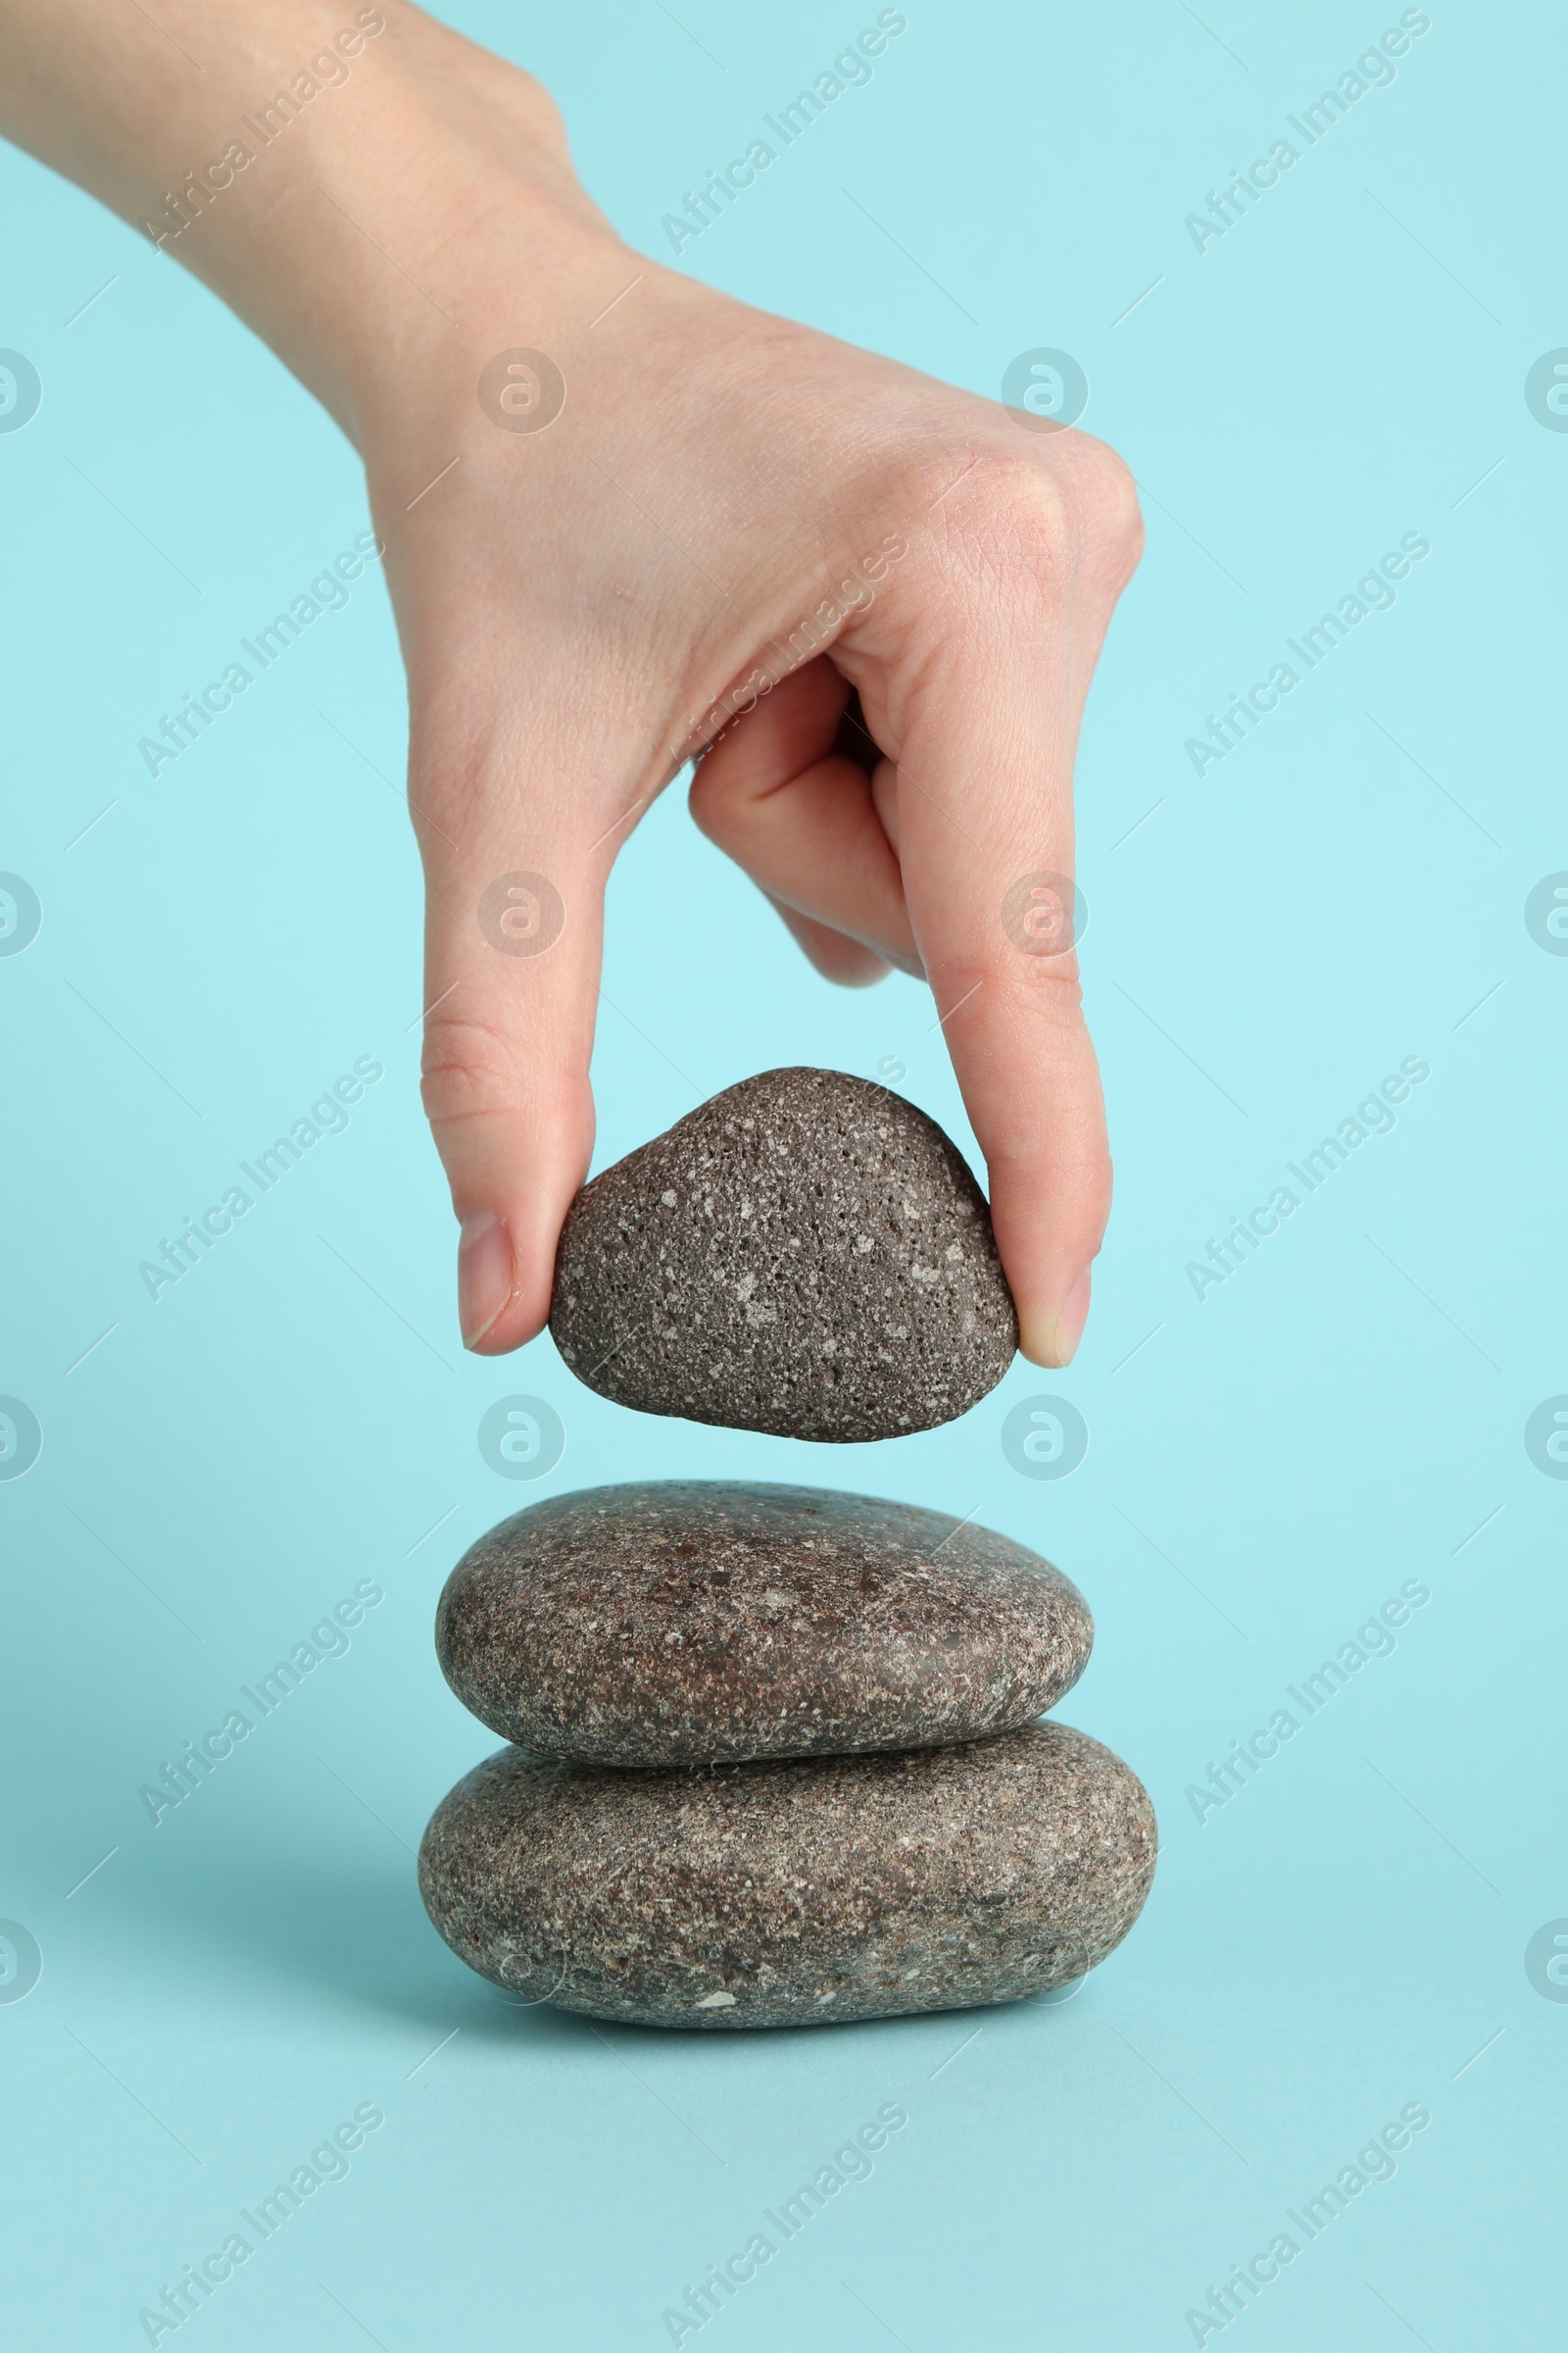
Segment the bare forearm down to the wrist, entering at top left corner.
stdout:
<svg viewBox="0 0 1568 2353">
<path fill-rule="evenodd" d="M 614 247 L 545 92 L 421 9 L 155 14 L 0 0 L 0 132 L 207 280 L 360 447 L 388 362 L 414 393 L 489 358 L 498 322 L 465 304 L 465 245 L 484 242 L 498 174 L 517 341 L 543 339 L 583 245 Z"/>
</svg>

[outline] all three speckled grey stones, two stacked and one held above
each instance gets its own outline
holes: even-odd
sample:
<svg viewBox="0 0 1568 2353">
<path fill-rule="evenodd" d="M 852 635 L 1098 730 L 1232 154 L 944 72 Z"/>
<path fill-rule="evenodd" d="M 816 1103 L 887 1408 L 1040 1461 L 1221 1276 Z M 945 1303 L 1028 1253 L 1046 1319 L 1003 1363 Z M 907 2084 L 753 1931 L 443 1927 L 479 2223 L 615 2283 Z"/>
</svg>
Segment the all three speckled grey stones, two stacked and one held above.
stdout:
<svg viewBox="0 0 1568 2353">
<path fill-rule="evenodd" d="M 882 1087 L 773 1071 L 576 1200 L 552 1332 L 604 1395 L 797 1438 L 933 1428 L 1016 1348 L 990 1214 Z M 1081 1593 L 966 1520 L 665 1480 L 517 1513 L 437 1654 L 503 1748 L 418 1859 L 451 1948 L 524 2000 L 799 2026 L 1044 1993 L 1138 1918 L 1135 1774 L 1039 1722 Z"/>
</svg>

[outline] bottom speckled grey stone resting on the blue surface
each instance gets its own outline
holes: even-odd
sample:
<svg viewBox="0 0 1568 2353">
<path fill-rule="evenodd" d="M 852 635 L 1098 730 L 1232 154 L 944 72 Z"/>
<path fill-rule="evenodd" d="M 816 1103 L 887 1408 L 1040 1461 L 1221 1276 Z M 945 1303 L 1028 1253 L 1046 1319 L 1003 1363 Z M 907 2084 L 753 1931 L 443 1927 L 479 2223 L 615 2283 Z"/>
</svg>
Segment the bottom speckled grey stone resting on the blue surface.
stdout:
<svg viewBox="0 0 1568 2353">
<path fill-rule="evenodd" d="M 425 1911 L 524 2000 L 816 2026 L 1044 1993 L 1154 1875 L 1138 1777 L 1067 1725 L 907 1755 L 616 1772 L 503 1748 L 435 1809 Z"/>
</svg>

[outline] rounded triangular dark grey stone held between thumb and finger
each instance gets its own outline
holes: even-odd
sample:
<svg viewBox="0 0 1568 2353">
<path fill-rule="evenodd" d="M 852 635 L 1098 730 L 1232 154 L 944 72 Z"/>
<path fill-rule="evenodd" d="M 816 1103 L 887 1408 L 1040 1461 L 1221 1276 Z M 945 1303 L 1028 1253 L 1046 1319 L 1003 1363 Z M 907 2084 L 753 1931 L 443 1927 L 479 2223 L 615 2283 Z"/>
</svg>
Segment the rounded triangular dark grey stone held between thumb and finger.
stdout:
<svg viewBox="0 0 1568 2353">
<path fill-rule="evenodd" d="M 952 1421 L 1018 1348 L 969 1162 L 842 1071 L 764 1071 L 595 1176 L 550 1332 L 618 1405 L 818 1440 Z"/>
</svg>

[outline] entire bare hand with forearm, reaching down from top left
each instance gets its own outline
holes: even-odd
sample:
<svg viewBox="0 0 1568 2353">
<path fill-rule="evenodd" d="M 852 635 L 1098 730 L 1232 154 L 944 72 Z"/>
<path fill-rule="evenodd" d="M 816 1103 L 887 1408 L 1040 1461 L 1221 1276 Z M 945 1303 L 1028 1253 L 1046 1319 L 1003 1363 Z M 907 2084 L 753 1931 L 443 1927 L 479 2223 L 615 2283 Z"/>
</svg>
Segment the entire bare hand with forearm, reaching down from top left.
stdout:
<svg viewBox="0 0 1568 2353">
<path fill-rule="evenodd" d="M 1074 953 L 1023 953 L 1001 908 L 1020 875 L 1074 871 L 1079 718 L 1140 551 L 1121 461 L 632 252 L 541 85 L 400 0 L 153 14 L 0 0 L 0 132 L 136 226 L 174 226 L 165 191 L 235 136 L 256 151 L 162 249 L 364 461 L 409 680 L 423 1094 L 465 1344 L 545 1325 L 592 1151 L 604 880 L 722 729 L 698 826 L 830 979 L 931 984 L 1023 1351 L 1065 1365 L 1110 1212 L 1105 1108 Z M 240 129 L 369 16 L 346 80 L 268 146 Z M 564 376 L 545 431 L 480 407 L 510 348 Z M 496 953 L 477 922 L 512 871 L 559 892 L 548 953 Z"/>
</svg>

